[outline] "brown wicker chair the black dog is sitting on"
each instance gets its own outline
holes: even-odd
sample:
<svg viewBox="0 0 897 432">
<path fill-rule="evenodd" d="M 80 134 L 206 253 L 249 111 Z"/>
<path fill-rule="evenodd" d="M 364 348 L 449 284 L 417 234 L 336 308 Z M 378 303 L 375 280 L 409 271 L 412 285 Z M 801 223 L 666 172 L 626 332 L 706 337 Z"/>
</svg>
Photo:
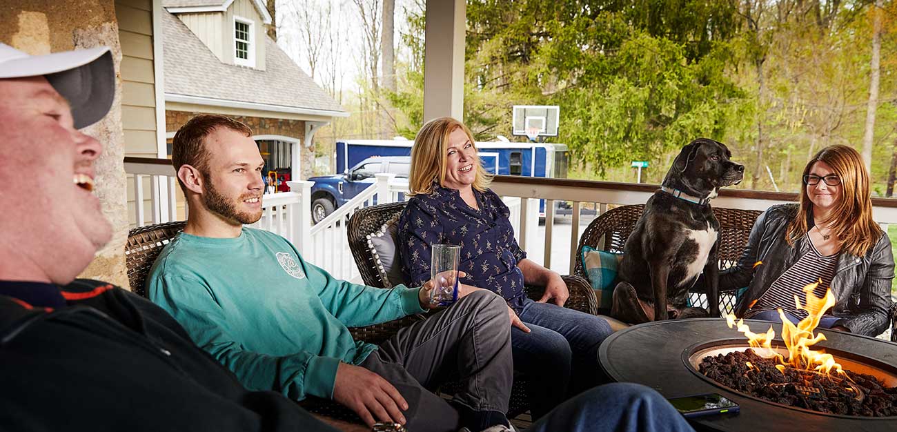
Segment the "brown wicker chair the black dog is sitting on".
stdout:
<svg viewBox="0 0 897 432">
<path fill-rule="evenodd" d="M 592 220 L 588 228 L 579 238 L 579 246 L 576 254 L 576 267 L 573 274 L 585 276 L 582 264 L 582 248 L 592 246 L 617 254 L 623 253 L 623 245 L 629 238 L 635 222 L 644 211 L 643 204 L 623 205 L 611 209 Z M 760 211 L 714 208 L 713 214 L 719 220 L 719 269 L 727 269 L 735 265 L 747 245 L 747 238 L 751 234 L 754 220 L 760 216 Z M 692 292 L 689 296 L 695 307 L 707 307 L 706 294 Z M 735 307 L 737 297 L 735 293 L 721 292 L 719 294 L 720 312 L 731 312 Z"/>
</svg>

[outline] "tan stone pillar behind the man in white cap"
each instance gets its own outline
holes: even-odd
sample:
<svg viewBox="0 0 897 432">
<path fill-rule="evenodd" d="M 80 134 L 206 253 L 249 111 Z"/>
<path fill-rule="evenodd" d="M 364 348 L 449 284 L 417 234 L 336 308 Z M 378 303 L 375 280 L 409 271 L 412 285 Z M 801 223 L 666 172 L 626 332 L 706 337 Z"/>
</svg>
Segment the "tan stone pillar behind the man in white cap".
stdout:
<svg viewBox="0 0 897 432">
<path fill-rule="evenodd" d="M 127 288 L 125 242 L 127 238 L 127 203 L 124 166 L 124 134 L 121 123 L 121 46 L 118 42 L 118 21 L 113 0 L 12 0 L 0 6 L 0 42 L 30 55 L 48 54 L 76 48 L 105 45 L 112 50 L 118 80 L 115 101 L 109 114 L 100 122 L 83 130 L 103 143 L 103 154 L 97 160 L 94 188 L 103 212 L 112 224 L 109 245 L 97 252 L 96 258 L 79 277 L 109 281 Z M 34 209 L 40 212 L 40 209 Z"/>
</svg>

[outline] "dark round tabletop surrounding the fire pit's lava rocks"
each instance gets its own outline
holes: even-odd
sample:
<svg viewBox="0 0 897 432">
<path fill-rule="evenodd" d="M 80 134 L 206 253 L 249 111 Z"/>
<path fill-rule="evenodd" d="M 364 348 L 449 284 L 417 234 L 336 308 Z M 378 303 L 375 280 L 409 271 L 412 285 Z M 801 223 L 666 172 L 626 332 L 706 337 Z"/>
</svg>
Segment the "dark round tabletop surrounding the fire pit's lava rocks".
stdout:
<svg viewBox="0 0 897 432">
<path fill-rule="evenodd" d="M 745 320 L 746 323 L 771 324 L 781 333 L 781 324 Z M 765 328 L 765 327 L 764 327 Z M 897 344 L 852 333 L 824 332 L 844 350 L 858 350 L 871 343 L 864 351 L 873 359 L 879 359 L 897 367 Z M 758 424 L 764 424 L 769 432 L 793 432 L 794 430 L 864 430 L 867 432 L 893 432 L 897 419 L 892 417 L 831 417 L 815 412 L 784 410 L 767 402 L 760 402 L 743 393 L 710 384 L 698 379 L 683 367 L 680 353 L 693 341 L 730 339 L 743 337 L 729 329 L 722 318 L 691 318 L 667 320 L 632 325 L 612 333 L 601 343 L 598 359 L 606 376 L 616 382 L 647 385 L 666 398 L 696 393 L 721 393 L 741 405 L 741 414 L 702 417 L 690 420 L 696 428 L 724 430 L 727 432 L 756 432 Z M 859 350 L 858 350 L 859 351 Z M 649 354 L 649 355 L 646 355 Z M 786 415 L 792 413 L 793 415 Z M 871 421 L 871 420 L 880 421 Z M 759 422 L 759 423 L 758 423 Z"/>
</svg>

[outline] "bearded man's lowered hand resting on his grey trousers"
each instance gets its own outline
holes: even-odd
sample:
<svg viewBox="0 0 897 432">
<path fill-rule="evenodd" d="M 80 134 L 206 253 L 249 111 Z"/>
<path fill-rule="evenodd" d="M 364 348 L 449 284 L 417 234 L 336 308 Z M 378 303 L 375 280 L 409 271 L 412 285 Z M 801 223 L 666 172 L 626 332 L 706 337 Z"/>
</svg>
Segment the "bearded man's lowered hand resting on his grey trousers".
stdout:
<svg viewBox="0 0 897 432">
<path fill-rule="evenodd" d="M 402 410 L 408 409 L 408 402 L 396 387 L 364 367 L 340 362 L 336 368 L 334 401 L 355 411 L 369 427 L 377 421 L 405 424 Z"/>
</svg>

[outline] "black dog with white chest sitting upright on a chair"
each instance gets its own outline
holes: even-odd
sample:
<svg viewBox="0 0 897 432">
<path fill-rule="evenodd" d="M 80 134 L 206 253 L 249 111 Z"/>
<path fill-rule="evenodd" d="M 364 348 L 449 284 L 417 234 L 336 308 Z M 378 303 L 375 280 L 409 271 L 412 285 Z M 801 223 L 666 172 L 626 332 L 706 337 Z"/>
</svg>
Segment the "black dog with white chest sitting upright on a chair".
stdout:
<svg viewBox="0 0 897 432">
<path fill-rule="evenodd" d="M 710 199 L 744 177 L 745 167 L 731 157 L 726 145 L 707 138 L 679 152 L 626 239 L 611 315 L 633 324 L 706 316 L 703 309 L 685 307 L 701 271 L 710 316 L 719 315 L 719 221 Z"/>
</svg>

